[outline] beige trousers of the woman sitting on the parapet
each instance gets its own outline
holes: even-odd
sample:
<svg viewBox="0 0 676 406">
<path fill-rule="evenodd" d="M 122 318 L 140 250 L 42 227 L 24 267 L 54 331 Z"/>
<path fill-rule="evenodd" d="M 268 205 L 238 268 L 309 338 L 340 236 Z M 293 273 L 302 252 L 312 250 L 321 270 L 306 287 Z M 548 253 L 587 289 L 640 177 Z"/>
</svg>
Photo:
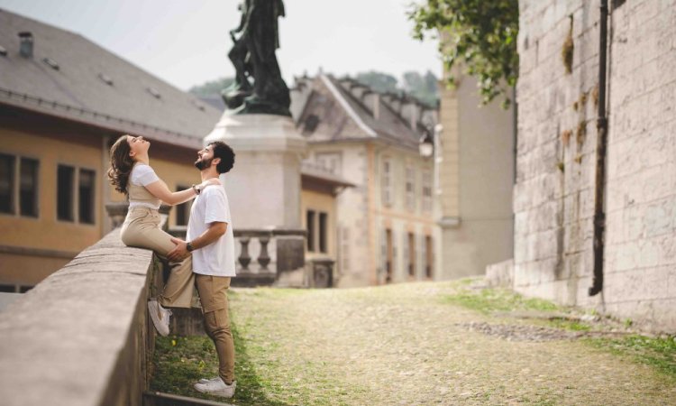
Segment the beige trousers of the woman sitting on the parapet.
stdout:
<svg viewBox="0 0 676 406">
<path fill-rule="evenodd" d="M 152 208 L 130 208 L 124 219 L 121 237 L 124 245 L 151 249 L 164 259 L 176 246 L 171 242 L 171 235 L 160 228 L 160 214 Z M 192 256 L 179 263 L 169 262 L 169 266 L 169 281 L 158 296 L 158 302 L 168 308 L 189 309 L 195 284 Z"/>
</svg>

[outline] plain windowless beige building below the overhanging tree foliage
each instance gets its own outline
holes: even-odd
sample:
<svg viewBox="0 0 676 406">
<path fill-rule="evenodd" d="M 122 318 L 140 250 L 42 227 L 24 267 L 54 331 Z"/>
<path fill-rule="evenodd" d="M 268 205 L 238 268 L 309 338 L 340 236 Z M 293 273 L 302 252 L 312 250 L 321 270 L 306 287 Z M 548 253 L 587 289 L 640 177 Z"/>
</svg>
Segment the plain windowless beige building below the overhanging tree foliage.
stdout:
<svg viewBox="0 0 676 406">
<path fill-rule="evenodd" d="M 475 78 L 441 84 L 435 190 L 442 228 L 442 278 L 483 274 L 514 254 L 514 109 L 480 106 Z"/>
</svg>

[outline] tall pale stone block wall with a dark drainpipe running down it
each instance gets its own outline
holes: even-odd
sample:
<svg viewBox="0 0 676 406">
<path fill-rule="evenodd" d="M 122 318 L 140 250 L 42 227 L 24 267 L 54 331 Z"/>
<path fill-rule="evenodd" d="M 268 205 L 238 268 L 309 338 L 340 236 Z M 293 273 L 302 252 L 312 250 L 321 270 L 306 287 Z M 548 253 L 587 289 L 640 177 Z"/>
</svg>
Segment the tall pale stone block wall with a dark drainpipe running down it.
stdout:
<svg viewBox="0 0 676 406">
<path fill-rule="evenodd" d="M 676 1 L 608 3 L 604 289 L 588 296 L 598 0 L 519 2 L 515 288 L 674 331 Z"/>
</svg>

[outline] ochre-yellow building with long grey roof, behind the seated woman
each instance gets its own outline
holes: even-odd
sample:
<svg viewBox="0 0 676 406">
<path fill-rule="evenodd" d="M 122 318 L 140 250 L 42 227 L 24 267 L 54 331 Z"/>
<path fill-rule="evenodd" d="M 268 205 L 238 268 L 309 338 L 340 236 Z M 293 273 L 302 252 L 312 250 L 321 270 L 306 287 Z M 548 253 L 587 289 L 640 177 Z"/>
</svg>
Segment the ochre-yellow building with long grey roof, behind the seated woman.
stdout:
<svg viewBox="0 0 676 406">
<path fill-rule="evenodd" d="M 19 34 L 22 33 L 22 36 Z M 0 10 L 0 291 L 25 291 L 110 229 L 110 143 L 152 142 L 171 189 L 220 113 L 78 34 Z M 173 210 L 170 224 L 187 221 Z"/>
</svg>

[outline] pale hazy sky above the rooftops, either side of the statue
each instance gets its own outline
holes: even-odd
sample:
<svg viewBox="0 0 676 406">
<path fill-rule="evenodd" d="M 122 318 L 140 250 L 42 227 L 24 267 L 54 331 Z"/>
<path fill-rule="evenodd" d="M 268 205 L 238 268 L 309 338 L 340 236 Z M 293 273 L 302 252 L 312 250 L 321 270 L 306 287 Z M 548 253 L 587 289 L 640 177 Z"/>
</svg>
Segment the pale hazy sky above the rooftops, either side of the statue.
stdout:
<svg viewBox="0 0 676 406">
<path fill-rule="evenodd" d="M 416 0 L 420 1 L 420 0 Z M 413 0 L 285 0 L 279 65 L 288 84 L 320 67 L 336 75 L 376 69 L 441 76 L 436 42 L 411 38 Z M 187 89 L 233 76 L 228 31 L 238 0 L 0 0 L 0 8 L 78 32 L 142 69 Z"/>
</svg>

